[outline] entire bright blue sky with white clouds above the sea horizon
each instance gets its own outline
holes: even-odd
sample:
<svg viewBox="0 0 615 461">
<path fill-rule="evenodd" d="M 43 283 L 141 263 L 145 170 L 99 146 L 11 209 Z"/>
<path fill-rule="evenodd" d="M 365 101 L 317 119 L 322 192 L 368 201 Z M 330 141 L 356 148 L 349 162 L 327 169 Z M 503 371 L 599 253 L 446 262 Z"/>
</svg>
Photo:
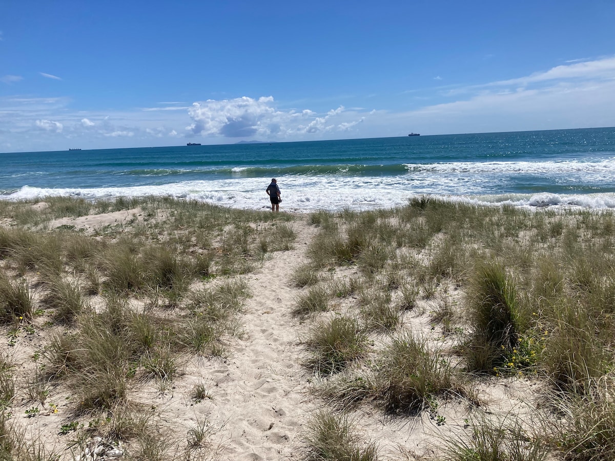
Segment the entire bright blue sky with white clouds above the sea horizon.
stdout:
<svg viewBox="0 0 615 461">
<path fill-rule="evenodd" d="M 615 125 L 615 1 L 0 0 L 0 152 Z"/>
</svg>

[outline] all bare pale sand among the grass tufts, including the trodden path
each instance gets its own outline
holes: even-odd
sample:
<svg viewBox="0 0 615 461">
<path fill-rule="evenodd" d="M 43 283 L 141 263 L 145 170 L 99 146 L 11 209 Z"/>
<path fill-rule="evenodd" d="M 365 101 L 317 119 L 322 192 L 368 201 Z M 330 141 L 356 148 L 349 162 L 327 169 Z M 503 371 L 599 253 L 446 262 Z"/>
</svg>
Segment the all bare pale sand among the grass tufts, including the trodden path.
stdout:
<svg viewBox="0 0 615 461">
<path fill-rule="evenodd" d="M 32 208 L 43 211 L 46 207 L 37 203 Z M 79 229 L 81 236 L 100 238 L 102 229 L 114 227 L 121 238 L 123 232 L 143 224 L 147 216 L 160 221 L 170 219 L 169 211 L 161 210 L 153 217 L 137 207 L 53 219 L 47 228 Z M 10 218 L 4 218 L 2 225 L 10 229 Z M 129 380 L 121 404 L 138 408 L 138 412 L 146 415 L 148 424 L 155 428 L 155 439 L 164 442 L 162 459 L 321 459 L 310 454 L 309 439 L 314 416 L 323 411 L 347 418 L 354 434 L 353 443 L 358 447 L 373 444 L 377 459 L 383 460 L 449 459 L 445 457 L 446 444 L 469 438 L 474 422 L 485 415 L 496 421 L 521 421 L 531 428 L 547 384 L 545 379 L 532 379 L 521 371 L 471 377 L 464 385 L 467 392 L 463 395 L 434 395 L 427 407 L 411 411 L 387 411 L 370 400 L 343 409 L 331 393 L 323 393 L 323 387 L 344 380 L 344 376 L 351 378 L 361 372 L 366 373 L 362 376 L 370 376 L 374 372 L 370 371 L 370 363 L 377 363 L 392 338 L 403 336 L 404 332 L 422 337 L 429 349 L 448 353 L 442 357 L 452 357 L 451 370 L 461 372 L 461 358 L 451 351 L 459 349 L 468 335 L 467 320 L 462 315 L 466 291 L 452 279 L 442 279 L 436 293 L 418 296 L 412 309 L 399 312 L 399 323 L 391 331 L 368 334 L 369 352 L 362 362 L 339 373 L 319 374 L 309 365 L 308 338 L 314 334 L 315 326 L 323 325 L 319 322 L 362 309 L 362 298 L 357 294 L 334 298 L 326 312 L 297 315 L 298 302 L 309 286 L 297 286 L 293 274 L 306 264 L 311 248 L 313 253 L 320 226 L 314 225 L 307 215 L 292 216 L 288 226 L 295 235 L 293 243 L 287 250 L 266 253 L 254 270 L 191 282 L 191 291 L 215 287 L 225 280 L 241 280 L 247 286 L 250 296 L 236 319 L 237 334 L 223 340 L 226 352 L 219 357 L 178 354 L 178 372 L 172 380 Z M 5 258 L 3 264 L 7 274 L 18 277 L 10 258 Z M 34 304 L 42 308 L 39 315 L 27 325 L 18 323 L 15 328 L 13 323 L 3 327 L 4 359 L 14 365 L 15 379 L 15 396 L 7 406 L 10 418 L 5 424 L 23 430 L 27 440 L 44 446 L 63 460 L 111 459 L 119 454 L 142 459 L 142 455 L 135 455 L 135 447 L 142 441 L 109 434 L 106 439 L 95 438 L 96 433 L 105 433 L 101 430 L 105 424 L 100 422 L 101 415 L 109 418 L 111 412 L 77 411 L 70 381 L 47 380 L 42 384 L 44 398 L 36 401 L 33 397 L 33 377 L 37 371 L 44 372 L 45 351 L 52 337 L 76 331 L 76 325 L 54 323 L 53 311 L 45 307 L 45 286 L 38 282 L 38 275 L 39 272 L 28 272 L 26 278 Z M 362 276 L 365 272 L 351 264 L 325 271 L 323 280 Z M 90 296 L 88 302 L 97 312 L 105 310 L 102 294 Z M 399 302 L 399 294 L 394 294 L 391 304 Z M 147 307 L 146 297 L 129 297 L 129 307 L 134 312 L 147 312 L 159 318 L 185 315 L 184 304 L 181 301 L 173 307 L 152 308 Z M 450 325 L 436 320 L 445 304 L 451 307 L 450 313 L 456 319 L 453 333 Z M 138 373 L 137 370 L 137 376 Z M 202 398 L 194 398 L 196 387 L 202 388 Z M 96 422 L 92 423 L 93 420 Z M 87 430 L 92 424 L 98 425 L 98 432 Z M 192 443 L 193 449 L 187 455 L 186 446 L 191 444 L 191 436 L 194 442 L 195 428 L 199 428 L 200 438 L 198 443 Z M 97 443 L 109 443 L 107 455 L 100 454 L 102 449 L 98 455 L 91 455 Z"/>
</svg>

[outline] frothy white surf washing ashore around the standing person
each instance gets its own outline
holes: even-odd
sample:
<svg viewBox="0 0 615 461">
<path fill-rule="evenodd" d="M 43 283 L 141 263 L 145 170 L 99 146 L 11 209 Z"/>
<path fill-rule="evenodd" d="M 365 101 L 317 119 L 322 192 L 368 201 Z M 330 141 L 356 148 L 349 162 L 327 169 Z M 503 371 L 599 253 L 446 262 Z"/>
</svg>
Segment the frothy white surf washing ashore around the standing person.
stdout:
<svg viewBox="0 0 615 461">
<path fill-rule="evenodd" d="M 482 179 L 483 182 L 498 181 Z M 467 182 L 467 184 L 465 184 Z M 443 185 L 445 183 L 445 185 Z M 615 208 L 615 193 L 600 194 L 485 194 L 484 184 L 467 181 L 461 176 L 443 181 L 431 178 L 425 181 L 407 181 L 399 177 L 344 178 L 335 181 L 325 178 L 286 176 L 278 178 L 282 189 L 282 209 L 310 212 L 314 210 L 339 211 L 373 210 L 403 206 L 418 195 L 433 195 L 446 200 L 475 203 L 477 205 L 509 204 L 515 207 L 585 207 Z M 250 210 L 269 208 L 265 194 L 268 181 L 258 178 L 220 179 L 213 181 L 183 181 L 158 186 L 96 187 L 82 189 L 44 189 L 24 186 L 17 192 L 4 195 L 4 200 L 27 200 L 49 195 L 82 197 L 84 199 L 111 199 L 113 197 L 143 197 L 146 195 L 171 196 L 178 199 L 199 200 L 232 208 Z M 451 194 L 451 190 L 463 191 Z"/>
</svg>

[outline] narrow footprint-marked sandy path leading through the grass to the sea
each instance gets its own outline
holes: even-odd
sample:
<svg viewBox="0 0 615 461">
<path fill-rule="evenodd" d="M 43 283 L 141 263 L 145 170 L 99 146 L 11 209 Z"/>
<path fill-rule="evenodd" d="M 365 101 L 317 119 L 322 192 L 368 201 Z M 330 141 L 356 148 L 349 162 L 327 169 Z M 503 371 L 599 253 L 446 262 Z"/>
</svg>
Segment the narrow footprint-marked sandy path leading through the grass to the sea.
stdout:
<svg viewBox="0 0 615 461">
<path fill-rule="evenodd" d="M 195 404 L 184 424 L 191 427 L 206 417 L 219 430 L 221 459 L 292 459 L 314 408 L 306 392 L 310 375 L 301 366 L 300 325 L 290 313 L 298 290 L 289 285 L 314 230 L 295 223 L 295 231 L 294 250 L 272 253 L 258 274 L 245 276 L 253 297 L 241 319 L 244 336 L 231 345 L 231 357 L 188 366 L 185 383 L 210 382 L 212 399 Z"/>
</svg>

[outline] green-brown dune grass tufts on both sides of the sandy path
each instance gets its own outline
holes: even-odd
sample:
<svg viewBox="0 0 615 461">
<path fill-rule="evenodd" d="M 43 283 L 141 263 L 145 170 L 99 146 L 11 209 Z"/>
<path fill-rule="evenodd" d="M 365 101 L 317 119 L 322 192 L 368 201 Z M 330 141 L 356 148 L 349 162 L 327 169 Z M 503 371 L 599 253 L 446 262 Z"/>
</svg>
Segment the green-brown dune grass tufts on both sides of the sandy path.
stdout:
<svg viewBox="0 0 615 461">
<path fill-rule="evenodd" d="M 23 373 L 0 356 L 7 459 L 52 459 L 9 415 L 23 413 L 22 402 L 48 408 L 57 389 L 70 389 L 75 420 L 93 422 L 84 440 L 127 441 L 135 459 L 213 456 L 215 425 L 201 418 L 185 436 L 157 443 L 156 411 L 133 396 L 148 386 L 170 395 L 191 360 L 233 357 L 250 280 L 273 252 L 299 246 L 299 221 L 314 237 L 300 242 L 309 244 L 305 258 L 280 286 L 292 290 L 284 309 L 303 326 L 296 347 L 327 409 L 306 428 L 305 459 L 379 459 L 380 447 L 357 436 L 357 409 L 451 424 L 443 403 L 475 408 L 474 386 L 510 383 L 536 384 L 552 412 L 536 412 L 542 419 L 529 431 L 516 417 L 468 410 L 440 459 L 613 459 L 610 211 L 433 197 L 304 219 L 168 197 L 0 205 L 8 223 L 0 226 L 1 328 L 10 347 L 44 337 L 25 349 Z M 118 213 L 117 222 L 70 224 L 96 213 Z M 218 392 L 204 380 L 190 388 L 193 404 Z"/>
</svg>

